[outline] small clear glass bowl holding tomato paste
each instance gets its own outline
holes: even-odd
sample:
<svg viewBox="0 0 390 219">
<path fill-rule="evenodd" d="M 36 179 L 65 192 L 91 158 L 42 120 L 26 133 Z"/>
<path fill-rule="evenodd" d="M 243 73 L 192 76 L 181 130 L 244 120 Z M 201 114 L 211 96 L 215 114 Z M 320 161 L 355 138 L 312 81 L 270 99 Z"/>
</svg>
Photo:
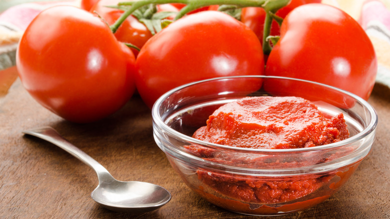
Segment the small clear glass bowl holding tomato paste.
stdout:
<svg viewBox="0 0 390 219">
<path fill-rule="evenodd" d="M 245 96 L 299 96 L 325 117 L 342 112 L 350 136 L 321 146 L 253 149 L 192 138 L 222 104 Z M 341 89 L 287 77 L 231 76 L 179 86 L 153 105 L 153 135 L 181 179 L 201 197 L 230 211 L 279 215 L 328 198 L 347 181 L 374 140 L 377 115 Z"/>
</svg>

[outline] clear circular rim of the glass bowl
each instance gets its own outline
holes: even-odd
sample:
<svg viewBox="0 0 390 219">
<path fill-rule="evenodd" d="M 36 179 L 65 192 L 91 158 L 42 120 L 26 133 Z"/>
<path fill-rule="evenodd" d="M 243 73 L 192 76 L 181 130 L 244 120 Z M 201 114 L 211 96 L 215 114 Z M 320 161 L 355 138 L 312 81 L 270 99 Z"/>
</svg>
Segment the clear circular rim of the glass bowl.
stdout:
<svg viewBox="0 0 390 219">
<path fill-rule="evenodd" d="M 307 83 L 312 83 L 320 86 L 324 86 L 333 90 L 336 90 L 338 92 L 344 93 L 356 100 L 356 102 L 359 102 L 361 105 L 363 105 L 367 111 L 369 112 L 368 114 L 370 115 L 371 119 L 368 122 L 367 126 L 358 132 L 357 134 L 348 137 L 344 140 L 338 141 L 338 142 L 333 142 L 329 144 L 324 144 L 324 145 L 319 145 L 319 146 L 313 146 L 313 147 L 302 147 L 302 148 L 289 148 L 289 149 L 262 149 L 262 148 L 244 148 L 244 147 L 234 147 L 234 146 L 228 146 L 228 145 L 222 145 L 222 144 L 216 144 L 216 143 L 211 143 L 208 141 L 203 141 L 199 140 L 196 138 L 193 138 L 191 136 L 185 135 L 183 133 L 180 133 L 179 131 L 174 130 L 173 128 L 170 128 L 168 125 L 165 124 L 165 122 L 162 120 L 160 114 L 159 114 L 159 106 L 162 103 L 164 99 L 166 99 L 168 96 L 170 96 L 172 93 L 183 89 L 185 87 L 194 85 L 194 84 L 199 84 L 199 83 L 204 83 L 207 81 L 216 81 L 216 80 L 222 80 L 222 79 L 234 79 L 234 78 L 273 78 L 273 79 L 287 79 L 287 80 L 295 80 L 295 81 L 301 81 L 301 82 L 307 82 Z M 153 104 L 152 109 L 151 109 L 151 114 L 152 114 L 152 120 L 153 122 L 156 123 L 157 126 L 161 127 L 164 129 L 164 131 L 168 132 L 169 134 L 173 136 L 177 136 L 182 140 L 185 140 L 187 142 L 199 144 L 202 146 L 212 146 L 214 148 L 220 148 L 220 149 L 229 149 L 229 150 L 239 150 L 239 151 L 247 151 L 247 152 L 265 152 L 265 153 L 290 153 L 290 152 L 309 152 L 309 151 L 317 151 L 317 150 L 322 150 L 322 149 L 332 149 L 340 146 L 344 146 L 356 141 L 361 140 L 365 136 L 369 135 L 373 131 L 375 131 L 375 128 L 377 126 L 378 122 L 378 116 L 376 114 L 375 109 L 363 98 L 359 97 L 358 95 L 351 93 L 349 91 L 340 89 L 335 86 L 327 85 L 324 83 L 319 83 L 315 81 L 310 81 L 310 80 L 305 80 L 305 79 L 299 79 L 299 78 L 292 78 L 292 77 L 284 77 L 284 76 L 272 76 L 272 75 L 239 75 L 239 76 L 222 76 L 222 77 L 213 77 L 213 78 L 208 78 L 208 79 L 203 79 L 203 80 L 198 80 L 198 81 L 193 81 L 189 82 L 180 86 L 177 86 L 173 89 L 170 89 L 169 91 L 165 92 L 162 94 Z"/>
</svg>

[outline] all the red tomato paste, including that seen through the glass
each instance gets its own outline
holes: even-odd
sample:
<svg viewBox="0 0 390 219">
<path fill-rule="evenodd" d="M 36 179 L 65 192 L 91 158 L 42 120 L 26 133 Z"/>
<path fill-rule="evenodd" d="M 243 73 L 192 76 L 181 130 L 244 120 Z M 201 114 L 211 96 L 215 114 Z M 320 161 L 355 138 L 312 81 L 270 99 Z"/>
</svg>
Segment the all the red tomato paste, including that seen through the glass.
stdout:
<svg viewBox="0 0 390 219">
<path fill-rule="evenodd" d="M 312 102 L 303 98 L 271 96 L 245 97 L 222 105 L 209 116 L 206 126 L 193 133 L 194 138 L 212 143 L 264 149 L 312 147 L 337 142 L 348 136 L 349 131 L 342 113 L 328 118 Z M 235 157 L 234 153 L 218 154 L 213 149 L 200 145 L 188 145 L 186 148 L 208 160 L 238 165 L 246 163 L 246 167 L 268 163 L 292 167 L 296 164 L 288 160 L 268 162 L 269 157 L 254 159 Z M 304 162 L 304 157 L 302 160 Z M 200 168 L 197 170 L 198 179 L 222 197 L 258 203 L 259 206 L 288 202 L 308 195 L 324 183 L 334 183 L 331 181 L 334 175 L 259 177 Z M 199 189 L 203 190 L 202 187 L 197 188 Z M 202 196 L 207 198 L 207 195 Z M 228 205 L 228 202 L 221 204 L 220 197 L 217 198 L 219 205 Z"/>
</svg>

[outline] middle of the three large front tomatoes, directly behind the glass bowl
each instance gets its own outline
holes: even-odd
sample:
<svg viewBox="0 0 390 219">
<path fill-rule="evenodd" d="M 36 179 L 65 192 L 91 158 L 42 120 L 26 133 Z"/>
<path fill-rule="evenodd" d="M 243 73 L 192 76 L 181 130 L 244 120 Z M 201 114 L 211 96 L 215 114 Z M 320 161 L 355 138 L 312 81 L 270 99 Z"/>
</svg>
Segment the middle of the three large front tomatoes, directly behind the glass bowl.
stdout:
<svg viewBox="0 0 390 219">
<path fill-rule="evenodd" d="M 137 90 L 151 107 L 161 94 L 184 83 L 262 74 L 264 61 L 261 43 L 249 27 L 209 10 L 182 17 L 152 36 L 141 48 L 136 68 Z"/>
</svg>

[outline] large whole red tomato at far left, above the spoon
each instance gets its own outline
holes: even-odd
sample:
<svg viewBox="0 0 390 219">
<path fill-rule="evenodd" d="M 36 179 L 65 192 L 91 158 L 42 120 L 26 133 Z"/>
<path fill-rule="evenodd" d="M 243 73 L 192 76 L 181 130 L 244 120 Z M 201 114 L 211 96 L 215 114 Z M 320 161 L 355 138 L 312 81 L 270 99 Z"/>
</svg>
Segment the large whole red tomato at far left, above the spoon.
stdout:
<svg viewBox="0 0 390 219">
<path fill-rule="evenodd" d="M 118 110 L 134 91 L 135 58 L 97 16 L 73 6 L 40 12 L 20 39 L 16 66 L 40 104 L 73 122 Z"/>
</svg>

